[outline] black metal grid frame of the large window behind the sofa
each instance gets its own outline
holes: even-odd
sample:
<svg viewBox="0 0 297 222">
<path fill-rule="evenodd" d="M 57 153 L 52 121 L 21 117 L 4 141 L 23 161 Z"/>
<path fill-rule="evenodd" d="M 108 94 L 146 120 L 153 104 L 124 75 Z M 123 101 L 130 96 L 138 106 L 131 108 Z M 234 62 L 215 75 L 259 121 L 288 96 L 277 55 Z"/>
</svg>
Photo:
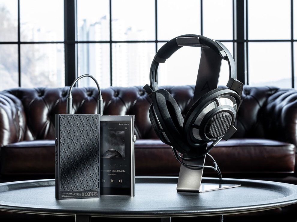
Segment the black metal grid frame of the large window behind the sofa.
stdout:
<svg viewBox="0 0 297 222">
<path fill-rule="evenodd" d="M 155 52 L 158 51 L 158 43 L 164 43 L 168 40 L 158 40 L 158 4 L 155 0 L 155 40 L 150 41 L 113 41 L 112 39 L 112 0 L 110 4 L 110 40 L 109 41 L 78 41 L 77 40 L 77 0 L 64 0 L 64 41 L 52 42 L 21 42 L 20 41 L 20 0 L 17 0 L 18 6 L 18 40 L 17 42 L 0 42 L 0 44 L 14 44 L 18 45 L 18 85 L 21 83 L 21 58 L 20 47 L 22 44 L 49 44 L 49 43 L 62 43 L 64 44 L 64 61 L 65 61 L 65 85 L 69 86 L 76 79 L 78 72 L 77 61 L 77 44 L 79 43 L 108 43 L 110 45 L 110 85 L 113 85 L 113 66 L 112 66 L 112 45 L 114 43 L 155 43 Z M 199 1 L 199 0 L 198 0 Z M 200 0 L 200 34 L 203 35 L 203 1 Z M 237 79 L 242 83 L 249 84 L 249 61 L 248 61 L 248 46 L 249 42 L 290 42 L 291 43 L 291 83 L 292 88 L 295 87 L 294 75 L 294 33 L 293 33 L 293 0 L 291 2 L 291 39 L 248 39 L 248 7 L 249 0 L 232 0 L 233 4 L 233 39 L 220 40 L 221 42 L 233 43 L 233 57 L 237 67 Z"/>
</svg>

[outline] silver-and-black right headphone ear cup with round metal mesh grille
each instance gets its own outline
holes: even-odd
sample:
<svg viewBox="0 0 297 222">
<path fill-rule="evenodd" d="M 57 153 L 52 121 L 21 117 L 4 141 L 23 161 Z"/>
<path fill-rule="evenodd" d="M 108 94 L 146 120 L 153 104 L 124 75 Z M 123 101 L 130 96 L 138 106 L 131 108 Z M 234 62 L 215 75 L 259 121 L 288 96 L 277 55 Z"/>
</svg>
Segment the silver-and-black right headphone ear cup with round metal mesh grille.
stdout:
<svg viewBox="0 0 297 222">
<path fill-rule="evenodd" d="M 217 88 L 199 98 L 188 111 L 183 130 L 190 145 L 215 141 L 233 126 L 240 96 L 229 88 Z"/>
</svg>

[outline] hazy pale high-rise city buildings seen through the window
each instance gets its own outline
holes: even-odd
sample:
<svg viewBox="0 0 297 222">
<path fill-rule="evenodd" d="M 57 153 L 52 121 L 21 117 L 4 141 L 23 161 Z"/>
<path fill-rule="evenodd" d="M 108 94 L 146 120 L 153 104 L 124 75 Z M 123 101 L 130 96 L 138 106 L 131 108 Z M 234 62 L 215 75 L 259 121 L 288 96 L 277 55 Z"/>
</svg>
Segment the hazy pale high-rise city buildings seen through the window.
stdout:
<svg viewBox="0 0 297 222">
<path fill-rule="evenodd" d="M 146 31 L 135 27 L 127 27 L 124 21 L 113 19 L 114 39 L 121 41 L 145 39 Z M 88 24 L 87 19 L 79 27 L 79 39 L 102 39 L 109 32 L 109 18 L 103 16 L 99 21 Z M 123 35 L 124 33 L 124 35 Z M 110 48 L 104 43 L 81 43 L 78 50 L 79 76 L 93 75 L 102 85 L 110 86 Z M 145 85 L 149 80 L 149 68 L 155 55 L 153 43 L 113 43 L 112 64 L 114 86 Z M 93 85 L 87 78 L 80 83 L 82 86 Z"/>
</svg>

